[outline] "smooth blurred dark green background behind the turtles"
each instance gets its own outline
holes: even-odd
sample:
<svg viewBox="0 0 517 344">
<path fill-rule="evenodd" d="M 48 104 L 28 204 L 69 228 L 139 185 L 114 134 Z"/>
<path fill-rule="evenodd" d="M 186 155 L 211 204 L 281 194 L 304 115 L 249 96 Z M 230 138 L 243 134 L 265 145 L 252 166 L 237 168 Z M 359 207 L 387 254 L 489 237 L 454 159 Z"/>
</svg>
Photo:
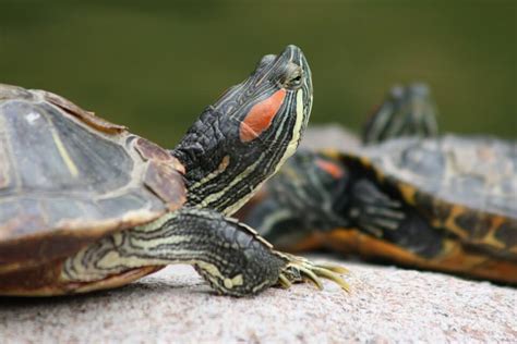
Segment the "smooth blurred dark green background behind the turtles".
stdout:
<svg viewBox="0 0 517 344">
<path fill-rule="evenodd" d="M 516 1 L 107 2 L 0 0 L 0 82 L 170 147 L 263 54 L 296 44 L 312 124 L 358 130 L 390 85 L 422 81 L 443 131 L 517 138 Z"/>
</svg>

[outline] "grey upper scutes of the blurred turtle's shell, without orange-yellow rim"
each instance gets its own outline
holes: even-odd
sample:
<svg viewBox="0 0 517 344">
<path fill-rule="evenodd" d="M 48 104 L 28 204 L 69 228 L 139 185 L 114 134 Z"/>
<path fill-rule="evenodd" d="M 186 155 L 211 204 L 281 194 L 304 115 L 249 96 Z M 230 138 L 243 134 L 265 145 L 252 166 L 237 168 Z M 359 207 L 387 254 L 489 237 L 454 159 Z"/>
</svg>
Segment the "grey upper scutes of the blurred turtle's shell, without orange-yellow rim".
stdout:
<svg viewBox="0 0 517 344">
<path fill-rule="evenodd" d="M 386 176 L 435 198 L 517 218 L 517 143 L 447 135 L 394 139 L 364 152 Z"/>
</svg>

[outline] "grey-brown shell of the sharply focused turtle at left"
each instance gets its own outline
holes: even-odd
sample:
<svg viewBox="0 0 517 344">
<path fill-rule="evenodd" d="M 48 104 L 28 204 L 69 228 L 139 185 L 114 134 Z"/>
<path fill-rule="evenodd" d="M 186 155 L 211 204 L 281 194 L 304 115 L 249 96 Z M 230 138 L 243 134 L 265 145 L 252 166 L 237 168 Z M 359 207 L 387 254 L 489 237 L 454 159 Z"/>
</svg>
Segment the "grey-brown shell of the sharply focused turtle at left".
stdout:
<svg viewBox="0 0 517 344">
<path fill-rule="evenodd" d="M 60 96 L 0 84 L 0 274 L 181 207 L 183 172 L 167 150 Z"/>
</svg>

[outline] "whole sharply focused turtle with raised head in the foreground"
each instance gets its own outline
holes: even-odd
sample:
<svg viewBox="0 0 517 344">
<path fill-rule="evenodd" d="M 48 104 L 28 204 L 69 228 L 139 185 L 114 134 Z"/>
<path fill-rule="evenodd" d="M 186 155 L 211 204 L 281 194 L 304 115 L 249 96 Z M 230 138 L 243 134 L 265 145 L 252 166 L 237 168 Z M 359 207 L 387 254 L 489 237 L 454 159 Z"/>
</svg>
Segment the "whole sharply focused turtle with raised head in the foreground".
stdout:
<svg viewBox="0 0 517 344">
<path fill-rule="evenodd" d="M 263 57 L 173 149 L 56 94 L 0 85 L 0 295 L 118 287 L 192 265 L 245 296 L 344 268 L 276 250 L 230 216 L 294 152 L 312 107 L 300 48 Z"/>
</svg>

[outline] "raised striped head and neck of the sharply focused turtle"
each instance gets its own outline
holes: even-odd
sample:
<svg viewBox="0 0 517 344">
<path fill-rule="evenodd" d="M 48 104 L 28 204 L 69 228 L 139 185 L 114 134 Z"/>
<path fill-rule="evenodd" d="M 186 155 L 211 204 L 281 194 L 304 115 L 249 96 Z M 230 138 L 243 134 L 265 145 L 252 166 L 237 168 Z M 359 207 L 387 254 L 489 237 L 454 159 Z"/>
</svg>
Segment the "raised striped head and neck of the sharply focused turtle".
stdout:
<svg viewBox="0 0 517 344">
<path fill-rule="evenodd" d="M 172 153 L 185 167 L 188 204 L 230 214 L 297 149 L 312 107 L 300 50 L 267 54 L 188 131 Z"/>
</svg>

